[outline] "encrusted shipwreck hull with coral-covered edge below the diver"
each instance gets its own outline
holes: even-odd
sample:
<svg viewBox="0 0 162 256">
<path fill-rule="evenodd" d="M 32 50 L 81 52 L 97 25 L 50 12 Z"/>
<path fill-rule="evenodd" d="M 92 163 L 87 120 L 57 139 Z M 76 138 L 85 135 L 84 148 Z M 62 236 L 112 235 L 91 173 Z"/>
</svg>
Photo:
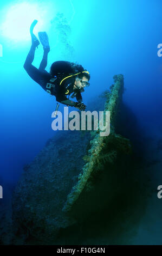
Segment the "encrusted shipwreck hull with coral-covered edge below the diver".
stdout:
<svg viewBox="0 0 162 256">
<path fill-rule="evenodd" d="M 101 212 L 120 190 L 131 152 L 129 140 L 115 133 L 123 91 L 124 77 L 114 76 L 111 91 L 105 92 L 108 136 L 101 137 L 100 130 L 58 132 L 25 166 L 13 199 L 13 243 L 55 244 L 60 230 Z"/>
</svg>

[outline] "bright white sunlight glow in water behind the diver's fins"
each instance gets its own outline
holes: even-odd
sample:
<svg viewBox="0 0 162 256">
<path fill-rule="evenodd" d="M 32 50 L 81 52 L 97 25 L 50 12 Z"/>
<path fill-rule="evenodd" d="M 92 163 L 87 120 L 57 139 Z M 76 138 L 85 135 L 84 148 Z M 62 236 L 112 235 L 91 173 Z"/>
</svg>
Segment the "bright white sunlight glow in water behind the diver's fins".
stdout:
<svg viewBox="0 0 162 256">
<path fill-rule="evenodd" d="M 4 11 L 2 35 L 15 42 L 28 41 L 29 27 L 38 20 L 34 32 L 47 30 L 50 19 L 50 7 L 47 4 L 21 2 L 9 6 Z M 54 13 L 53 13 L 54 15 Z"/>
</svg>

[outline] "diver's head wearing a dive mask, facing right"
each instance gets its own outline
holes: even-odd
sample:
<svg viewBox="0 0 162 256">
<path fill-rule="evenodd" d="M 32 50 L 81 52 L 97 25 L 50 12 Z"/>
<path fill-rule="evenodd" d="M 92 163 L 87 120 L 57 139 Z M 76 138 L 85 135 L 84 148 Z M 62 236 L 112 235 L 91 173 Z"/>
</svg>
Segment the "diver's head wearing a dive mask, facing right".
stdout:
<svg viewBox="0 0 162 256">
<path fill-rule="evenodd" d="M 88 87 L 90 84 L 88 83 L 90 79 L 90 75 L 87 72 L 83 72 L 75 78 L 74 89 L 83 89 L 84 87 Z"/>
</svg>

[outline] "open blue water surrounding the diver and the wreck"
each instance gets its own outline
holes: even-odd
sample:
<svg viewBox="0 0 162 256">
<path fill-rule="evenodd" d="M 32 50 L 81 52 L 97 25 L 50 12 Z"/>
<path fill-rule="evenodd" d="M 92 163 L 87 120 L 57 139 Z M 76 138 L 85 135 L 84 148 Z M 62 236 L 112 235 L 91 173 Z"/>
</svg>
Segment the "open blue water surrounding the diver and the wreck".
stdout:
<svg viewBox="0 0 162 256">
<path fill-rule="evenodd" d="M 137 117 L 148 144 L 152 143 L 148 158 L 161 159 L 162 151 L 157 152 L 156 145 L 162 132 L 162 57 L 157 55 L 157 46 L 162 43 L 162 2 L 26 1 L 33 10 L 31 16 L 23 8 L 22 15 L 17 15 L 18 4 L 24 2 L 7 0 L 0 4 L 3 25 L 0 34 L 3 46 L 0 57 L 1 180 L 16 182 L 24 164 L 31 162 L 47 139 L 55 134 L 51 129 L 55 97 L 47 94 L 23 69 L 31 44 L 29 26 L 34 19 L 40 22 L 40 27 L 35 28 L 36 35 L 46 30 L 49 36 L 51 51 L 47 71 L 56 60 L 69 60 L 77 61 L 90 72 L 90 87 L 83 94 L 85 104 L 106 90 L 115 74 L 124 75 L 123 100 Z M 11 21 L 7 16 L 9 11 Z M 55 27 L 57 13 L 63 14 L 60 27 Z M 37 67 L 42 54 L 40 45 L 34 60 Z M 153 166 L 151 172 L 156 190 L 162 182 L 161 163 Z M 132 243 L 162 244 L 161 203 L 154 193 Z"/>
</svg>

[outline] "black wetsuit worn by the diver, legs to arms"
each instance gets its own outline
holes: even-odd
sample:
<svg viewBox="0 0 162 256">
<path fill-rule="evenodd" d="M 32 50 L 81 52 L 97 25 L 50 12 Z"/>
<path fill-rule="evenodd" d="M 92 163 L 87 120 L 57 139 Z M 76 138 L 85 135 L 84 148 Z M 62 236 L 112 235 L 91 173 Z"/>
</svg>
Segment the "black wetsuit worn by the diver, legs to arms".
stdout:
<svg viewBox="0 0 162 256">
<path fill-rule="evenodd" d="M 32 49 L 31 49 L 32 50 Z M 67 77 L 69 74 L 59 76 L 51 76 L 46 70 L 40 68 L 37 69 L 35 66 L 33 66 L 31 63 L 33 62 L 34 59 L 34 54 L 33 52 L 29 52 L 27 59 L 24 64 L 24 69 L 27 71 L 28 75 L 40 86 L 46 90 L 47 93 L 56 96 L 56 101 L 59 101 L 65 105 L 68 106 L 75 106 L 75 102 L 72 100 L 69 100 L 70 94 L 73 92 L 73 97 L 76 97 L 76 100 L 78 102 L 82 102 L 82 96 L 80 90 L 74 90 L 74 81 L 75 81 L 75 76 L 66 78 L 63 80 L 64 77 Z M 43 60 L 42 60 L 43 62 Z M 59 62 L 58 62 L 59 63 Z M 63 62 L 60 62 L 61 64 Z M 43 63 L 41 63 L 43 64 Z M 43 66 L 43 65 L 42 65 Z M 63 80 L 63 82 L 60 85 L 60 82 Z M 82 89 L 82 92 L 84 90 Z M 68 98 L 67 98 L 68 96 Z"/>
</svg>

